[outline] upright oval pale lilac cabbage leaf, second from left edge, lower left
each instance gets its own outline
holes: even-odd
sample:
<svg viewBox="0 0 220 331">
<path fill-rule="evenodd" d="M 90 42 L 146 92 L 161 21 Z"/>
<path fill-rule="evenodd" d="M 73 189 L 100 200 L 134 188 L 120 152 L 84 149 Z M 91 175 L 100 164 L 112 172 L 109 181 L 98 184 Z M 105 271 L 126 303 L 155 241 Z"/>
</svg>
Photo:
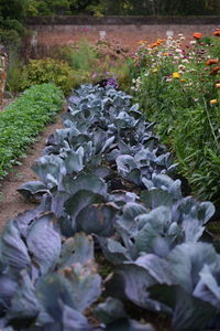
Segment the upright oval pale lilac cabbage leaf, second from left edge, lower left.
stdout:
<svg viewBox="0 0 220 331">
<path fill-rule="evenodd" d="M 54 222 L 52 213 L 40 216 L 26 236 L 29 250 L 43 275 L 54 269 L 61 254 L 61 236 Z"/>
</svg>

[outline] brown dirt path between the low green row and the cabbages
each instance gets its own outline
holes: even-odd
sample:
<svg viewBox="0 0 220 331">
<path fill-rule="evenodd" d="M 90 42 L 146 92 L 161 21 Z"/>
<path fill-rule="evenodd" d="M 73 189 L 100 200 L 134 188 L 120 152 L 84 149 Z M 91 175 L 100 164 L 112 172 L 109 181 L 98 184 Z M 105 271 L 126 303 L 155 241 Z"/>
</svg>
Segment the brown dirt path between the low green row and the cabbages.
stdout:
<svg viewBox="0 0 220 331">
<path fill-rule="evenodd" d="M 0 181 L 0 233 L 2 233 L 8 220 L 35 207 L 35 204 L 25 201 L 16 189 L 24 182 L 38 180 L 37 175 L 31 170 L 31 166 L 35 159 L 41 157 L 48 136 L 56 129 L 62 128 L 62 113 L 59 113 L 56 115 L 55 122 L 48 125 L 40 134 L 37 141 L 29 148 L 28 157 L 22 160 L 22 164 L 13 167 L 10 174 L 3 181 Z"/>
</svg>

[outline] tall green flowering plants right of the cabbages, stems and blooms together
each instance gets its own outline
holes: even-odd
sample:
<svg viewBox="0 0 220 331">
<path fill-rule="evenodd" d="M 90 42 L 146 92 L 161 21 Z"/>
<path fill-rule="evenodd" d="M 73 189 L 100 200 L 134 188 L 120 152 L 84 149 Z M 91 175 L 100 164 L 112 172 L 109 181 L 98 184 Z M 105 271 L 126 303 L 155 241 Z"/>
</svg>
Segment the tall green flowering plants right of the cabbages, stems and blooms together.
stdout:
<svg viewBox="0 0 220 331">
<path fill-rule="evenodd" d="M 202 39 L 201 44 L 183 52 L 179 41 L 158 49 L 142 47 L 131 73 L 136 99 L 174 150 L 194 193 L 219 203 L 219 81 L 206 62 L 210 56 L 218 58 L 220 44 L 216 41 L 212 46 L 210 41 Z"/>
</svg>

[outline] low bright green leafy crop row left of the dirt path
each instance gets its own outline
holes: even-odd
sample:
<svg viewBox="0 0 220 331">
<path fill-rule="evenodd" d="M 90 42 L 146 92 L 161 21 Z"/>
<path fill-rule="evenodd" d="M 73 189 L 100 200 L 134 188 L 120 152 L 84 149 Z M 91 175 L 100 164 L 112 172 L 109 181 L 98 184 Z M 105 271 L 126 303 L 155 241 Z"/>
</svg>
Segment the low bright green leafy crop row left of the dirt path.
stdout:
<svg viewBox="0 0 220 331">
<path fill-rule="evenodd" d="M 63 94 L 55 85 L 36 85 L 0 113 L 0 178 L 8 173 L 36 134 L 52 120 L 63 100 Z"/>
</svg>

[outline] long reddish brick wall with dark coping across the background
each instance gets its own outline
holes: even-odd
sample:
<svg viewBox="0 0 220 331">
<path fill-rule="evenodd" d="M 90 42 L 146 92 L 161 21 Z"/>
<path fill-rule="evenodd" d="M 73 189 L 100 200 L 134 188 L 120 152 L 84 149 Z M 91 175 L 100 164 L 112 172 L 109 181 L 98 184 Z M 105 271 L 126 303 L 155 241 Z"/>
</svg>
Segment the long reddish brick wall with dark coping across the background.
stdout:
<svg viewBox="0 0 220 331">
<path fill-rule="evenodd" d="M 122 45 L 135 49 L 138 41 L 155 41 L 166 38 L 167 31 L 174 36 L 184 33 L 187 40 L 193 39 L 194 32 L 210 34 L 220 28 L 220 17 L 206 18 L 143 18 L 143 17 L 43 17 L 28 18 L 28 26 L 35 32 L 35 43 L 46 47 L 70 44 L 81 38 L 89 41 L 100 39 L 101 31 L 106 38 L 118 40 Z"/>
</svg>

